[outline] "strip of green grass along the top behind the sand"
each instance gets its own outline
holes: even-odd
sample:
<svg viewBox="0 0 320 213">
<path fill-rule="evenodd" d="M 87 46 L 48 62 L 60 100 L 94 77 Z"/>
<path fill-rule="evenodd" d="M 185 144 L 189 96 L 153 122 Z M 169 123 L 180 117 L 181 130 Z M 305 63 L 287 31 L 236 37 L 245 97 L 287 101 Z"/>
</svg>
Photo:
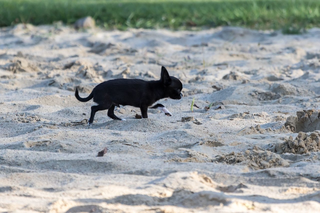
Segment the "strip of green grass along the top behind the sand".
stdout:
<svg viewBox="0 0 320 213">
<path fill-rule="evenodd" d="M 242 26 L 301 33 L 320 26 L 320 0 L 0 0 L 0 26 L 92 16 L 106 28 Z"/>
</svg>

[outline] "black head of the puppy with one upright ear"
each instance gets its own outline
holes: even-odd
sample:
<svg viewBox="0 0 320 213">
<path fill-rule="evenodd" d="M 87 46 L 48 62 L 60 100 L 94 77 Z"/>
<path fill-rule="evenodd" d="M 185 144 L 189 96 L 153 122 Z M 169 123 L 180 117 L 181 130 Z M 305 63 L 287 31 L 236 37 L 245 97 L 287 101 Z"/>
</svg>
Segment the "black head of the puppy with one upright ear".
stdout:
<svg viewBox="0 0 320 213">
<path fill-rule="evenodd" d="M 172 99 L 180 100 L 182 98 L 182 83 L 179 79 L 169 76 L 167 69 L 163 66 L 161 68 L 161 79 L 164 84 L 165 93 Z"/>
</svg>

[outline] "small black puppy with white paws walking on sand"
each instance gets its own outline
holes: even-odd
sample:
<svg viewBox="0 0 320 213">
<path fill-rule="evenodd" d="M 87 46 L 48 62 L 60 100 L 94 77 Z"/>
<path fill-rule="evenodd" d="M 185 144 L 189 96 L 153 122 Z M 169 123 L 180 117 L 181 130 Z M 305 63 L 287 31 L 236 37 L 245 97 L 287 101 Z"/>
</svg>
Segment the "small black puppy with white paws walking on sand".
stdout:
<svg viewBox="0 0 320 213">
<path fill-rule="evenodd" d="M 87 102 L 93 98 L 99 105 L 91 107 L 91 115 L 88 125 L 91 126 L 94 115 L 99 110 L 108 110 L 108 116 L 115 120 L 125 120 L 116 117 L 115 106 L 129 105 L 140 107 L 142 118 L 148 118 L 148 107 L 162 98 L 180 100 L 182 83 L 179 79 L 169 76 L 168 71 L 161 68 L 160 80 L 145 81 L 142 79 L 113 79 L 102 82 L 93 88 L 91 94 L 81 98 L 76 88 L 75 96 L 81 102 Z M 157 103 L 149 109 L 162 110 L 165 115 L 172 116 L 164 105 Z"/>
</svg>

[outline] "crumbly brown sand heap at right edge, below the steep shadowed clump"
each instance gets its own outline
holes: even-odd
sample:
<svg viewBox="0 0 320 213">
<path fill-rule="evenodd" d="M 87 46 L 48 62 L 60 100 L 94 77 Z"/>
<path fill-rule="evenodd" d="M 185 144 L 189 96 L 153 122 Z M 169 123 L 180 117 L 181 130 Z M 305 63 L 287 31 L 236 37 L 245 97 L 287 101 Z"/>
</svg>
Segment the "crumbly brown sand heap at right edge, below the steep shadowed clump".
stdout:
<svg viewBox="0 0 320 213">
<path fill-rule="evenodd" d="M 320 152 L 320 133 L 312 132 L 308 135 L 300 132 L 294 140 L 290 136 L 283 143 L 276 144 L 275 152 L 278 154 L 293 153 L 298 155 Z"/>
</svg>

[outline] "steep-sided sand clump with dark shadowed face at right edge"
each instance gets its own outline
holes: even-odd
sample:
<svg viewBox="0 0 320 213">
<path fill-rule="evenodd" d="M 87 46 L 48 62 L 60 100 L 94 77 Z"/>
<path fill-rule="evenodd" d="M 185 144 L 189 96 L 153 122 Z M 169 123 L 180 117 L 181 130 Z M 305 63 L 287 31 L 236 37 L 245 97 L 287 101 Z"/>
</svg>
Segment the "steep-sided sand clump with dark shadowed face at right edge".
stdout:
<svg viewBox="0 0 320 213">
<path fill-rule="evenodd" d="M 284 126 L 294 133 L 320 130 L 320 110 L 297 111 L 297 116 L 289 116 Z"/>
</svg>

